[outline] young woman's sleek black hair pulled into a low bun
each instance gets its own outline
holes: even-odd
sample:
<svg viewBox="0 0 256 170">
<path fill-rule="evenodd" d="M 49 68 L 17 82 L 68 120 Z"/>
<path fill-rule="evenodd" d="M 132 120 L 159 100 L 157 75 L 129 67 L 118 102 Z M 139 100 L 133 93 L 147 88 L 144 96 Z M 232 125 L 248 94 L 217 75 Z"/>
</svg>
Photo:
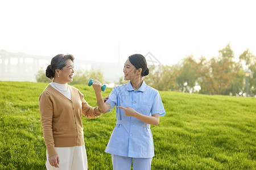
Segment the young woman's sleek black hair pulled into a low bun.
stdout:
<svg viewBox="0 0 256 170">
<path fill-rule="evenodd" d="M 133 54 L 128 58 L 131 64 L 134 65 L 136 69 L 139 69 L 139 68 L 142 69 L 142 72 L 141 72 L 142 76 L 148 75 L 149 69 L 147 67 L 147 61 L 144 56 L 142 56 L 141 54 Z"/>
</svg>

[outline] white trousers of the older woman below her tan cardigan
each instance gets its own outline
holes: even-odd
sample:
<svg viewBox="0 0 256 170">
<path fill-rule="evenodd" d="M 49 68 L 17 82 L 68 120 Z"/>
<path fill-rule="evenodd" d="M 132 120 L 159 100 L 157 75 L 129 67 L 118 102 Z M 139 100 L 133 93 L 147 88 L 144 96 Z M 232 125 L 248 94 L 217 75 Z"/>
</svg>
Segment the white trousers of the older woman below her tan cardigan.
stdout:
<svg viewBox="0 0 256 170">
<path fill-rule="evenodd" d="M 48 170 L 87 170 L 88 164 L 84 145 L 74 147 L 55 147 L 55 150 L 60 159 L 59 168 L 52 167 L 52 165 L 49 164 L 48 152 L 46 150 L 46 168 Z"/>
</svg>

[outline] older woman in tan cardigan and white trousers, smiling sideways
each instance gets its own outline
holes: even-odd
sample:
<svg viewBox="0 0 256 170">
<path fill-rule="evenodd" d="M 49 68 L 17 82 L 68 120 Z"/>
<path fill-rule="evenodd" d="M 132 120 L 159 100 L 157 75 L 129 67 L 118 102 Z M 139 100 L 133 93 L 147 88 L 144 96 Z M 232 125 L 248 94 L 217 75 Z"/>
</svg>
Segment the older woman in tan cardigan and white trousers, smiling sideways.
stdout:
<svg viewBox="0 0 256 170">
<path fill-rule="evenodd" d="M 81 114 L 87 118 L 101 115 L 98 107 L 90 107 L 84 95 L 67 84 L 75 73 L 73 61 L 71 54 L 52 58 L 46 76 L 53 81 L 39 97 L 47 169 L 87 169 Z"/>
</svg>

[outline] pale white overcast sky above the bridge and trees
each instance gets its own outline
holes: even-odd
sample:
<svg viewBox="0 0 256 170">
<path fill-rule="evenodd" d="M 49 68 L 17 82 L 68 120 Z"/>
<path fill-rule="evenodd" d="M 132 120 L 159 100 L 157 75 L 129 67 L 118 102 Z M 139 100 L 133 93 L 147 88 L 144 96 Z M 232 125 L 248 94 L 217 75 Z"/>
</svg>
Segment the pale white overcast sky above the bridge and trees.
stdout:
<svg viewBox="0 0 256 170">
<path fill-rule="evenodd" d="M 0 0 L 0 49 L 125 62 L 150 52 L 172 65 L 211 58 L 227 44 L 256 54 L 256 1 Z"/>
</svg>

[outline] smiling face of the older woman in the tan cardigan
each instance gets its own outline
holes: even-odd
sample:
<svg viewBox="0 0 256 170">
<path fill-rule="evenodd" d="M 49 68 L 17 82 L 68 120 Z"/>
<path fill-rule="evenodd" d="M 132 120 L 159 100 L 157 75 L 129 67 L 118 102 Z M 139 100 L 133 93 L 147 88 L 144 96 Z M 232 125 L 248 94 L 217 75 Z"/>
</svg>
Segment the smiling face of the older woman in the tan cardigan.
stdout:
<svg viewBox="0 0 256 170">
<path fill-rule="evenodd" d="M 73 81 L 74 63 L 71 59 L 66 61 L 66 66 L 59 70 L 59 80 L 61 83 L 69 83 Z"/>
</svg>

